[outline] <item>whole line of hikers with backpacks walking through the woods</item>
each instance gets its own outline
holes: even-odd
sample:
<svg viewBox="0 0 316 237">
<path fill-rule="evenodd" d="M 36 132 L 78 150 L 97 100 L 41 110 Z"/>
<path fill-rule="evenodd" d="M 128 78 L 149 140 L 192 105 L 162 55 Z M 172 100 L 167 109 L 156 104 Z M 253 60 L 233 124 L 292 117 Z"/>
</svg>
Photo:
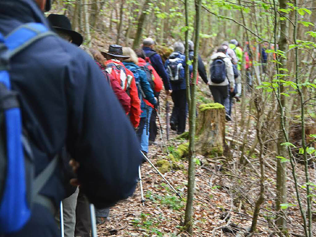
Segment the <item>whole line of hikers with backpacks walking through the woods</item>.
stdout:
<svg viewBox="0 0 316 237">
<path fill-rule="evenodd" d="M 197 83 L 182 42 L 164 63 L 152 38 L 135 51 L 112 44 L 100 52 L 82 45 L 66 16 L 45 18 L 49 9 L 50 0 L 0 1 L 0 236 L 59 236 L 61 200 L 64 236 L 90 236 L 89 203 L 97 223 L 104 223 L 109 207 L 135 190 L 138 167 L 161 126 L 162 87 L 173 100 L 170 128 L 182 134 L 186 67 Z M 192 60 L 192 41 L 188 47 Z M 198 56 L 198 75 L 214 102 L 225 106 L 228 121 L 247 57 L 238 41 L 223 42 L 211 56 L 208 77 Z M 22 182 L 29 182 L 23 158 L 34 169 L 31 199 Z M 12 202 L 14 195 L 21 201 Z"/>
</svg>

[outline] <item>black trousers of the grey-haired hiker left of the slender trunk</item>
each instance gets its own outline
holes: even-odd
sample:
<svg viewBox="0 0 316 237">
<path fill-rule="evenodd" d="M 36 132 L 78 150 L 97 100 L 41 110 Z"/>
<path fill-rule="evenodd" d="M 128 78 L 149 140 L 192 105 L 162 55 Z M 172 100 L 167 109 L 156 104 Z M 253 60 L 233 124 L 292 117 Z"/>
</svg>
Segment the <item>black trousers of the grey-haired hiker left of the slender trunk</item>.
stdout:
<svg viewBox="0 0 316 237">
<path fill-rule="evenodd" d="M 178 125 L 178 133 L 184 133 L 186 122 L 186 89 L 173 90 L 171 97 L 173 101 L 173 109 L 170 122 L 173 121 Z"/>
</svg>

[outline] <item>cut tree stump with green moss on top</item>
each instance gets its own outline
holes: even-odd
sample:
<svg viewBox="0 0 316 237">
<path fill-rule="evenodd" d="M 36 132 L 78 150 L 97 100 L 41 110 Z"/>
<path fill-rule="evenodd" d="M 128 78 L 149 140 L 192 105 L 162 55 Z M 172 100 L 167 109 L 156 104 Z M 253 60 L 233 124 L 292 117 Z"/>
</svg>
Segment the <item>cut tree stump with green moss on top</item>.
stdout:
<svg viewBox="0 0 316 237">
<path fill-rule="evenodd" d="M 221 156 L 225 147 L 225 108 L 219 103 L 201 104 L 196 123 L 196 152 Z"/>
</svg>

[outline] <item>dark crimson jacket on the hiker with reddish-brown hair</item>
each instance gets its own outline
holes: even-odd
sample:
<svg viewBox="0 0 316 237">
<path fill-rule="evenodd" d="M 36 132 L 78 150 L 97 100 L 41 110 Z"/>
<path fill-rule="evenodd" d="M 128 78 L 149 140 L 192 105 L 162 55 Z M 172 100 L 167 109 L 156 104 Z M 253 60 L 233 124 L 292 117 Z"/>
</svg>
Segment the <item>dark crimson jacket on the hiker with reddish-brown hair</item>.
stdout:
<svg viewBox="0 0 316 237">
<path fill-rule="evenodd" d="M 127 93 L 120 87 L 119 83 L 114 80 L 111 74 L 106 73 L 105 68 L 97 62 L 97 65 L 99 65 L 101 72 L 103 73 L 104 77 L 109 80 L 109 83 L 111 85 L 111 88 L 118 98 L 120 104 L 122 105 L 123 109 L 125 110 L 125 113 L 128 114 L 131 110 L 131 98 L 127 95 Z"/>
</svg>

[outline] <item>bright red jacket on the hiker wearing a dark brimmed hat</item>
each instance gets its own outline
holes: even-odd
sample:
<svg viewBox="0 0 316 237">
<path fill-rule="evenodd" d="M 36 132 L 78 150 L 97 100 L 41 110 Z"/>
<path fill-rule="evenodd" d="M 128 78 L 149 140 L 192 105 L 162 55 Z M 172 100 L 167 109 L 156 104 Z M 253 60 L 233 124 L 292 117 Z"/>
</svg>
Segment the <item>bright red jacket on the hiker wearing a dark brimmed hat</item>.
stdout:
<svg viewBox="0 0 316 237">
<path fill-rule="evenodd" d="M 118 60 L 107 60 L 106 62 L 104 62 L 104 65 L 108 65 L 110 63 L 113 64 L 117 64 L 120 66 L 123 66 L 125 68 L 126 71 L 126 76 L 130 75 L 132 77 L 132 81 L 130 84 L 130 98 L 131 98 L 131 110 L 130 110 L 130 120 L 131 123 L 133 125 L 134 128 L 137 128 L 140 122 L 140 115 L 141 115 L 141 109 L 140 109 L 140 100 L 138 98 L 138 91 L 137 91 L 137 87 L 136 87 L 136 83 L 135 83 L 135 78 L 134 78 L 134 74 L 128 70 L 123 63 L 121 63 Z M 117 77 L 117 75 L 115 74 L 115 71 L 112 70 L 111 75 L 113 76 L 113 78 L 119 83 L 119 85 L 121 84 L 120 78 Z M 126 91 L 126 84 L 124 85 L 124 90 Z"/>
</svg>

